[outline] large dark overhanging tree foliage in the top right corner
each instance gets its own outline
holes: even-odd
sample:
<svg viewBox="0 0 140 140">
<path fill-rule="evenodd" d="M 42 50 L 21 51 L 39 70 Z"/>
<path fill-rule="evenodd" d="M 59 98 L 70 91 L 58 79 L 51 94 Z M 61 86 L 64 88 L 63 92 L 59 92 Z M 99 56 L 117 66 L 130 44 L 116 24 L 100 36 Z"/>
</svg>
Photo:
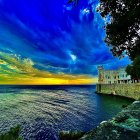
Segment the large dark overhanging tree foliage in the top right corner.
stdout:
<svg viewBox="0 0 140 140">
<path fill-rule="evenodd" d="M 105 42 L 114 56 L 125 53 L 133 60 L 140 55 L 140 1 L 100 0 L 98 10 L 102 17 L 110 16 L 105 26 Z"/>
</svg>

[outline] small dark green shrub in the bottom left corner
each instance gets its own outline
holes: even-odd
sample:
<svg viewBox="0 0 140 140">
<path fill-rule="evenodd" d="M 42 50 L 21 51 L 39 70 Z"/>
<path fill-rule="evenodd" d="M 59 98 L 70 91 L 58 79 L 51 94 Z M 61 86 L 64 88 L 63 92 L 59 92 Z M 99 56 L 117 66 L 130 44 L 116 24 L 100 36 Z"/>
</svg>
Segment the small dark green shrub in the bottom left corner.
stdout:
<svg viewBox="0 0 140 140">
<path fill-rule="evenodd" d="M 0 135 L 0 140 L 22 140 L 19 137 L 20 125 L 12 127 L 9 132 Z"/>
</svg>

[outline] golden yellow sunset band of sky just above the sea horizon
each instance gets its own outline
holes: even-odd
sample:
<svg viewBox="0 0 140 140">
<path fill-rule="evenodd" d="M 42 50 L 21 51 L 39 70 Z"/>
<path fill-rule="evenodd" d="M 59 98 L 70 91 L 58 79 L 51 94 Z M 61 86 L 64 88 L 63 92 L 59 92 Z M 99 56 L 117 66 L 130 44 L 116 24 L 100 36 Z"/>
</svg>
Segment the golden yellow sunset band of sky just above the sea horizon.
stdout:
<svg viewBox="0 0 140 140">
<path fill-rule="evenodd" d="M 87 75 L 54 74 L 34 68 L 30 59 L 0 53 L 0 84 L 79 85 L 94 84 L 97 78 Z"/>
</svg>

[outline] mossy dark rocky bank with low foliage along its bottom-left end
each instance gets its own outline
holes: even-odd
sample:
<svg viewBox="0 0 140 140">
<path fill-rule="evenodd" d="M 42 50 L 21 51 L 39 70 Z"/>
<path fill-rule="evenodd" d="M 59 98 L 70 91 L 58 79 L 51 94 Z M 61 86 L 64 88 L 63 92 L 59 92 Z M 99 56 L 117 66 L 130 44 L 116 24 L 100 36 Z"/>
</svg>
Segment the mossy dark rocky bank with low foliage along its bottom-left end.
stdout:
<svg viewBox="0 0 140 140">
<path fill-rule="evenodd" d="M 140 140 L 140 101 L 134 101 L 109 121 L 87 133 L 61 132 L 61 140 Z"/>
</svg>

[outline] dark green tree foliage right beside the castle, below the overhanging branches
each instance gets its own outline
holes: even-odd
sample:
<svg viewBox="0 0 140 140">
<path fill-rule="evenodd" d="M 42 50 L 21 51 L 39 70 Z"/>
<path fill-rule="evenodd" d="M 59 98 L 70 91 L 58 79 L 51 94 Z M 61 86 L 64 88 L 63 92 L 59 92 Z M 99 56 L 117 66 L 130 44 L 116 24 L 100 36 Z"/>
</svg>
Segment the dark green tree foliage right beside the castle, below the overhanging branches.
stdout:
<svg viewBox="0 0 140 140">
<path fill-rule="evenodd" d="M 133 79 L 140 79 L 140 56 L 137 56 L 133 63 L 126 67 L 126 72 Z"/>
</svg>

